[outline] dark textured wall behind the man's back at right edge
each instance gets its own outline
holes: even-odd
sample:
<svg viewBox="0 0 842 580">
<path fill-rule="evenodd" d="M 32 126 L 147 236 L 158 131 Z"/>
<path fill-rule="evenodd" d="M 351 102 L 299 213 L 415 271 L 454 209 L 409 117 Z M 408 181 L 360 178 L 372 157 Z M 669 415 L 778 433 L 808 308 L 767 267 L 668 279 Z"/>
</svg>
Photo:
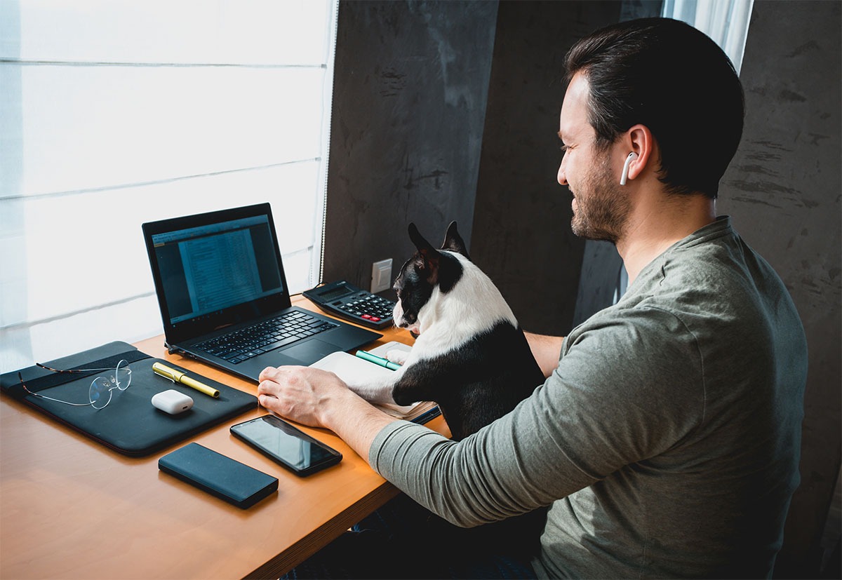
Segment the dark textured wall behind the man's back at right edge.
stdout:
<svg viewBox="0 0 842 580">
<path fill-rule="evenodd" d="M 838 2 L 754 3 L 740 72 L 743 141 L 717 203 L 717 212 L 733 216 L 746 242 L 781 275 L 807 332 L 802 483 L 777 577 L 817 577 L 813 552 L 839 473 L 840 8 Z"/>
</svg>

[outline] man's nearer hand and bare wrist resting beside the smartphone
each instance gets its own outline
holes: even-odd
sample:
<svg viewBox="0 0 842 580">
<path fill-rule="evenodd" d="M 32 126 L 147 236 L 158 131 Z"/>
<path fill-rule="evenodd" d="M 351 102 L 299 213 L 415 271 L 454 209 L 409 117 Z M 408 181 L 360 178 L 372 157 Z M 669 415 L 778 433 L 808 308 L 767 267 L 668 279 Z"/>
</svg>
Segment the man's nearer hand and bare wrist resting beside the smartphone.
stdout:
<svg viewBox="0 0 842 580">
<path fill-rule="evenodd" d="M 267 367 L 259 380 L 258 401 L 263 407 L 296 423 L 332 430 L 364 460 L 376 434 L 396 420 L 326 370 Z"/>
</svg>

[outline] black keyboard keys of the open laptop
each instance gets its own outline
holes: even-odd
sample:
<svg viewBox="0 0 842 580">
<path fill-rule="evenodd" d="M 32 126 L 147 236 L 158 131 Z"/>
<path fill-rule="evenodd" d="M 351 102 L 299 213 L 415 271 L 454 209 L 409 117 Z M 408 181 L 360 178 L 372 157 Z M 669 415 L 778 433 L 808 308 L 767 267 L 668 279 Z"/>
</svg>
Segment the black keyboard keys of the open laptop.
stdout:
<svg viewBox="0 0 842 580">
<path fill-rule="evenodd" d="M 304 312 L 291 311 L 251 327 L 211 338 L 197 346 L 208 354 L 238 364 L 338 326 L 335 322 L 325 322 Z"/>
</svg>

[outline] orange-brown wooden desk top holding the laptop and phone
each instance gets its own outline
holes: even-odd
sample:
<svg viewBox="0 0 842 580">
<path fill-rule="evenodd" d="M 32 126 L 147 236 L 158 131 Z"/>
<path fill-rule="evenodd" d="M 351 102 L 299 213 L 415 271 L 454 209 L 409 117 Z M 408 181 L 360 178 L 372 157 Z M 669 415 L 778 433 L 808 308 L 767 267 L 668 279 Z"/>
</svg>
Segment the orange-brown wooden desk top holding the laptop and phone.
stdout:
<svg viewBox="0 0 842 580">
<path fill-rule="evenodd" d="M 293 304 L 317 310 L 301 296 Z M 412 342 L 406 331 L 381 333 L 378 343 Z M 163 336 L 136 347 L 257 393 L 250 382 L 167 354 Z M 305 479 L 229 434 L 262 408 L 138 459 L 0 399 L 2 578 L 276 578 L 397 495 L 329 431 L 303 428 L 344 459 Z M 440 417 L 427 424 L 448 433 Z M 241 510 L 158 471 L 161 455 L 189 441 L 278 477 L 278 493 Z"/>
</svg>

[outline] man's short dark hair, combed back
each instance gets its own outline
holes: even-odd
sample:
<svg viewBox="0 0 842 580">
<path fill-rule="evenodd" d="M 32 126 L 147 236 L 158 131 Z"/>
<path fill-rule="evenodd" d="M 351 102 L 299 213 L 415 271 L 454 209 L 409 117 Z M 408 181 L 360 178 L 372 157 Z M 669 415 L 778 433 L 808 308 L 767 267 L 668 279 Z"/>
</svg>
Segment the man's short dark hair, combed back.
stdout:
<svg viewBox="0 0 842 580">
<path fill-rule="evenodd" d="M 743 135 L 743 86 L 713 40 L 673 19 L 638 19 L 578 40 L 564 60 L 590 85 L 589 122 L 605 149 L 632 125 L 660 148 L 658 178 L 674 194 L 716 198 Z"/>
</svg>

